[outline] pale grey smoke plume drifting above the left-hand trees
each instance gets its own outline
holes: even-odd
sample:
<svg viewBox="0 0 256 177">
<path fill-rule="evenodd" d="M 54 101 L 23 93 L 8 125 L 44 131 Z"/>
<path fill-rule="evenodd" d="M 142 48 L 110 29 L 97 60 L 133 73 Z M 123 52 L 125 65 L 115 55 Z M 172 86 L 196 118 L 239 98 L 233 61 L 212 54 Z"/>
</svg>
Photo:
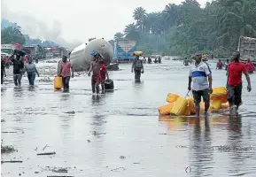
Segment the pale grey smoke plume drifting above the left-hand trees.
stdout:
<svg viewBox="0 0 256 177">
<path fill-rule="evenodd" d="M 11 12 L 8 7 L 2 3 L 2 18 L 11 22 L 16 22 L 21 27 L 23 34 L 27 34 L 32 38 L 49 40 L 58 43 L 63 47 L 74 48 L 81 44 L 80 41 L 66 42 L 60 35 L 62 34 L 62 26 L 57 20 L 53 22 L 52 27 L 48 27 L 46 23 L 39 19 L 26 14 L 26 12 Z"/>
</svg>

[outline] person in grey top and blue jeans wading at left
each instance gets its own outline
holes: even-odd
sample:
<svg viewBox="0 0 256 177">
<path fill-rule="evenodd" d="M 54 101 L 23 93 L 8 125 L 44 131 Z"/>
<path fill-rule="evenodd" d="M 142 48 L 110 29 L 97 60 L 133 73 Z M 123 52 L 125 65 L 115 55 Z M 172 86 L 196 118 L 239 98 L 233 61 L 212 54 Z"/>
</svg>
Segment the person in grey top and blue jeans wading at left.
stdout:
<svg viewBox="0 0 256 177">
<path fill-rule="evenodd" d="M 25 65 L 25 70 L 27 72 L 27 79 L 29 81 L 29 88 L 34 88 L 35 83 L 35 73 L 39 77 L 39 73 L 35 67 L 35 64 L 32 63 L 32 58 L 27 57 L 27 64 Z"/>
</svg>

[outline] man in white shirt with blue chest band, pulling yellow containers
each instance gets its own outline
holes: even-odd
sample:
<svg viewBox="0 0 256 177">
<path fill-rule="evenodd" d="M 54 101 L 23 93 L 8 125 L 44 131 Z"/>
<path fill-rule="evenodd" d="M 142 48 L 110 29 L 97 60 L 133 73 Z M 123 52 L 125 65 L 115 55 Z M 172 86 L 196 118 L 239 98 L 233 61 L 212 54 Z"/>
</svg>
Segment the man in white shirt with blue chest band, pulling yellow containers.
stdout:
<svg viewBox="0 0 256 177">
<path fill-rule="evenodd" d="M 202 55 L 197 54 L 195 59 L 195 64 L 190 66 L 188 89 L 191 90 L 192 82 L 192 94 L 194 97 L 196 114 L 199 116 L 201 96 L 203 96 L 203 100 L 205 102 L 205 113 L 208 113 L 208 109 L 210 107 L 210 94 L 213 93 L 213 79 L 210 67 L 202 61 Z"/>
</svg>

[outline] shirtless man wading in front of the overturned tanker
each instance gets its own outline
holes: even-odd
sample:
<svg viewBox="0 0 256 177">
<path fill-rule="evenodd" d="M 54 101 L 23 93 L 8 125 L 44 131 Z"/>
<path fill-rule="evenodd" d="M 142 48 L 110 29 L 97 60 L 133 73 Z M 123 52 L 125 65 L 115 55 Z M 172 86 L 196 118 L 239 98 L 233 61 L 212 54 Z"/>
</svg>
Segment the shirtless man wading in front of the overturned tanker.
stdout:
<svg viewBox="0 0 256 177">
<path fill-rule="evenodd" d="M 95 93 L 95 89 L 97 94 L 99 94 L 99 84 L 100 84 L 100 67 L 101 64 L 99 64 L 99 59 L 102 58 L 101 55 L 93 50 L 90 55 L 92 55 L 94 57 L 94 61 L 92 61 L 90 63 L 90 67 L 89 67 L 89 73 L 88 75 L 90 76 L 90 73 L 92 72 L 92 76 L 91 76 L 91 89 L 92 89 L 92 93 Z"/>
</svg>

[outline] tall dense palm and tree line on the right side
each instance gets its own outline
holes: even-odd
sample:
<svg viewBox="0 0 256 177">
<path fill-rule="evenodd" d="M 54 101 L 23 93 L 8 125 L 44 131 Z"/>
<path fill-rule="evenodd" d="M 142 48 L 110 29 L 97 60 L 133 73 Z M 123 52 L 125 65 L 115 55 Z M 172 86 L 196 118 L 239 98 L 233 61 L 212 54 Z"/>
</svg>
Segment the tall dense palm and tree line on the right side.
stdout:
<svg viewBox="0 0 256 177">
<path fill-rule="evenodd" d="M 213 0 L 201 8 L 197 0 L 167 4 L 162 12 L 133 12 L 134 23 L 114 35 L 114 41 L 137 41 L 145 53 L 188 56 L 202 52 L 228 57 L 240 35 L 256 37 L 255 0 Z"/>
</svg>

